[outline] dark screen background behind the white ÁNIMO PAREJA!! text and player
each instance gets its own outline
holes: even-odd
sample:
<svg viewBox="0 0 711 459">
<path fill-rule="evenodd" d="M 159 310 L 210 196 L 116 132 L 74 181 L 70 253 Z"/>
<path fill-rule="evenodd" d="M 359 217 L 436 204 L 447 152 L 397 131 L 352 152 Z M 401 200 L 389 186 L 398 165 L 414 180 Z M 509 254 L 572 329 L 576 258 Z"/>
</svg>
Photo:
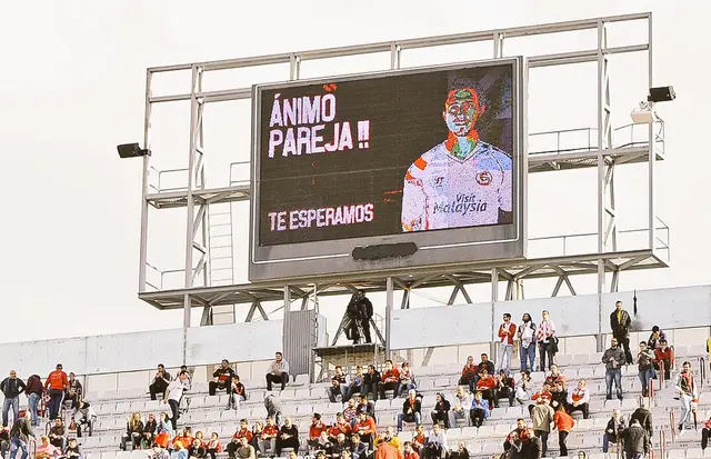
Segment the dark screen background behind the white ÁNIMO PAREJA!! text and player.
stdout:
<svg viewBox="0 0 711 459">
<path fill-rule="evenodd" d="M 487 109 L 477 122 L 480 139 L 512 153 L 511 64 L 445 71 L 337 80 L 264 89 L 258 94 L 259 126 L 259 246 L 311 242 L 402 233 L 403 180 L 422 153 L 447 139 L 442 118 L 450 82 L 467 78 L 477 83 Z M 291 99 L 337 97 L 337 116 L 327 123 L 329 138 L 334 122 L 351 122 L 353 149 L 287 156 L 277 149 L 269 157 L 270 119 L 274 97 Z M 357 123 L 370 121 L 368 148 L 359 148 Z M 518 164 L 513 164 L 515 168 Z M 510 197 L 512 199 L 512 197 Z M 372 203 L 370 221 L 322 228 L 274 229 L 274 213 L 304 209 Z M 271 216 L 270 216 L 271 213 Z M 283 223 L 283 221 L 282 221 Z M 286 217 L 289 227 L 289 214 Z M 279 227 L 279 224 L 278 224 Z M 283 226 L 282 226 L 283 228 Z"/>
</svg>

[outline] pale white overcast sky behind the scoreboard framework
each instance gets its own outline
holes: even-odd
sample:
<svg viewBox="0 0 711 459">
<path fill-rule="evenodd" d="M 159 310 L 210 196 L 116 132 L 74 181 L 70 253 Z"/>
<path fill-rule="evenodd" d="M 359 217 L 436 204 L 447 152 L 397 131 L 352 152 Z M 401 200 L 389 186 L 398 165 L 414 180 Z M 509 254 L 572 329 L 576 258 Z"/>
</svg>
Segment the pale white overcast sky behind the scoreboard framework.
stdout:
<svg viewBox="0 0 711 459">
<path fill-rule="evenodd" d="M 711 245 L 702 235 L 711 230 L 705 189 L 711 161 L 702 141 L 708 129 L 702 108 L 711 102 L 709 64 L 703 60 L 711 2 L 500 0 L 447 4 L 419 0 L 0 2 L 0 86 L 4 88 L 0 138 L 6 190 L 0 288 L 7 310 L 6 320 L 0 321 L 0 341 L 180 327 L 180 313 L 159 312 L 137 298 L 141 164 L 139 160 L 120 161 L 116 153 L 116 144 L 142 139 L 147 67 L 650 10 L 654 13 L 654 82 L 673 84 L 679 94 L 677 101 L 659 108 L 668 121 L 669 158 L 659 168 L 659 217 L 672 228 L 673 266 L 623 276 L 620 288 L 709 282 L 704 260 L 711 259 Z M 618 43 L 639 42 L 631 38 L 632 31 L 630 37 L 625 30 L 613 31 Z M 547 42 L 550 48 L 543 44 L 537 49 L 511 41 L 504 51 L 542 54 L 574 46 L 555 39 Z M 701 60 L 693 60 L 698 58 Z M 403 54 L 403 64 L 408 59 Z M 412 59 L 424 63 L 472 57 L 454 51 L 453 57 Z M 630 110 L 645 91 L 645 60 L 621 62 L 615 71 L 618 61 L 612 62 L 614 126 L 629 122 Z M 311 69 L 304 64 L 302 77 L 353 72 L 368 64 L 372 62 L 359 59 Z M 531 131 L 594 126 L 594 76 L 585 80 L 569 72 L 547 70 L 531 76 Z M 260 78 L 263 73 L 241 74 L 233 81 L 243 86 Z M 284 79 L 283 69 L 273 79 Z M 590 86 L 577 87 L 581 81 Z M 622 84 L 615 94 L 618 82 Z M 171 118 L 168 111 L 158 113 L 160 110 L 157 117 L 166 113 L 180 124 L 161 124 L 156 118 L 156 163 L 180 166 L 187 157 L 188 126 L 180 116 Z M 226 181 L 227 163 L 248 159 L 249 138 L 242 132 L 248 132 L 249 120 L 234 118 L 229 107 L 211 113 L 213 138 L 218 139 L 212 151 L 222 160 L 211 163 L 208 171 Z M 159 128 L 164 128 L 162 133 Z M 211 128 L 206 129 L 210 134 Z M 174 144 L 180 151 L 167 152 Z M 622 229 L 644 223 L 647 201 L 640 194 L 644 182 L 639 181 L 643 170 L 641 173 L 619 174 Z M 531 178 L 531 236 L 594 230 L 594 182 L 588 180 L 588 191 L 579 189 L 591 176 L 552 176 Z M 212 184 L 224 184 L 219 181 Z M 160 227 L 151 230 L 158 245 L 170 241 L 170 235 L 184 232 L 182 220 L 176 219 L 173 227 L 168 227 L 169 219 L 161 221 L 168 232 L 160 232 Z M 236 250 L 246 260 L 247 226 L 236 227 L 240 231 Z M 182 243 L 172 251 L 166 247 L 151 249 L 159 259 L 151 261 L 174 268 L 182 257 Z M 246 261 L 236 271 L 236 280 L 244 281 Z M 578 293 L 594 288 L 592 279 L 573 281 Z M 549 295 L 553 283 L 527 285 L 527 296 Z M 470 293 L 487 301 L 488 291 L 482 287 Z M 337 308 L 329 315 L 329 328 L 336 327 L 341 311 Z"/>
</svg>

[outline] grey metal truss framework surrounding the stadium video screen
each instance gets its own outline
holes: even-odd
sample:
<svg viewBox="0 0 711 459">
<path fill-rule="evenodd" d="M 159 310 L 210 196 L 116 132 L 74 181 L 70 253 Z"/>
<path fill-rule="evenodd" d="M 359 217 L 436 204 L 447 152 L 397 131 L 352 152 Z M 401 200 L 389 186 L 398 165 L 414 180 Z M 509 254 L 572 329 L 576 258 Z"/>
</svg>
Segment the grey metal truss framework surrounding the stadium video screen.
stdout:
<svg viewBox="0 0 711 459">
<path fill-rule="evenodd" d="M 647 42 L 608 47 L 607 30 L 611 23 L 645 21 L 649 36 Z M 216 250 L 227 247 L 216 245 L 214 226 L 211 222 L 211 208 L 240 200 L 250 199 L 250 182 L 247 177 L 232 177 L 228 187 L 209 188 L 206 180 L 204 163 L 207 152 L 203 148 L 203 110 L 209 103 L 241 100 L 251 98 L 251 88 L 223 89 L 203 91 L 202 78 L 206 72 L 241 69 L 274 63 L 289 64 L 289 74 L 284 78 L 299 79 L 300 68 L 304 62 L 342 58 L 357 54 L 379 52 L 390 53 L 391 69 L 399 69 L 402 56 L 408 50 L 434 48 L 445 44 L 491 42 L 492 58 L 504 57 L 504 42 L 509 38 L 539 36 L 558 32 L 574 32 L 597 30 L 598 46 L 595 49 L 582 49 L 574 52 L 529 56 L 529 69 L 551 66 L 565 66 L 581 62 L 597 62 L 598 66 L 598 126 L 579 130 L 561 130 L 552 132 L 531 133 L 529 143 L 537 139 L 557 138 L 555 147 L 539 151 L 529 151 L 529 172 L 563 171 L 579 168 L 597 168 L 598 194 L 598 228 L 589 235 L 570 235 L 565 237 L 543 238 L 562 243 L 562 251 L 542 258 L 532 258 L 518 262 L 487 262 L 478 261 L 468 265 L 443 266 L 437 269 L 403 269 L 384 272 L 363 272 L 358 275 L 319 277 L 318 279 L 294 279 L 293 281 L 259 282 L 234 285 L 227 279 L 220 285 L 214 279 L 213 262 Z M 213 322 L 214 313 L 220 308 L 232 310 L 234 305 L 250 303 L 247 320 L 256 313 L 264 320 L 268 315 L 262 308 L 266 301 L 284 301 L 286 310 L 294 300 L 301 300 L 301 308 L 308 309 L 311 303 L 318 303 L 317 297 L 351 295 L 356 288 L 369 291 L 388 292 L 388 310 L 393 307 L 393 291 L 401 290 L 402 308 L 410 305 L 410 293 L 413 289 L 430 287 L 451 287 L 449 303 L 453 303 L 459 293 L 465 301 L 472 298 L 467 287 L 477 283 L 491 283 L 491 300 L 499 298 L 499 281 L 507 282 L 507 292 L 502 300 L 512 300 L 522 296 L 521 281 L 523 279 L 557 278 L 552 296 L 557 296 L 563 285 L 575 295 L 571 278 L 577 275 L 597 275 L 598 293 L 617 291 L 620 273 L 629 270 L 662 268 L 669 260 L 669 228 L 655 214 L 655 164 L 664 159 L 664 126 L 663 121 L 654 124 L 630 124 L 613 129 L 610 122 L 610 76 L 609 58 L 612 54 L 645 53 L 649 62 L 649 86 L 652 86 L 652 14 L 627 14 L 609 18 L 597 18 L 579 21 L 549 23 L 531 27 L 519 27 L 502 30 L 440 36 L 402 41 L 380 42 L 354 47 L 331 48 L 303 52 L 290 52 L 263 57 L 232 59 L 211 62 L 194 62 L 178 66 L 156 67 L 148 69 L 146 92 L 146 124 L 144 147 L 150 148 L 151 108 L 158 103 L 172 101 L 190 101 L 190 144 L 188 168 L 179 170 L 188 177 L 183 188 L 164 189 L 160 186 L 160 177 L 164 172 L 156 171 L 150 166 L 149 157 L 143 158 L 143 193 L 142 193 L 142 224 L 140 240 L 139 298 L 159 309 L 184 309 L 184 327 L 190 327 L 190 309 L 203 308 L 201 325 Z M 152 96 L 152 78 L 157 73 L 191 72 L 191 86 L 183 93 Z M 647 88 L 642 88 L 645 93 Z M 639 133 L 643 130 L 640 139 Z M 570 132 L 588 136 L 588 143 L 575 148 L 563 148 L 560 138 Z M 624 138 L 623 141 L 619 139 Z M 160 154 L 161 152 L 156 152 Z M 634 250 L 619 250 L 618 239 L 621 231 L 617 224 L 614 176 L 615 168 L 628 163 L 644 163 L 648 166 L 649 188 L 649 219 L 645 228 L 635 230 L 647 236 L 647 243 Z M 243 166 L 243 163 L 241 163 Z M 240 163 L 233 164 L 239 167 Z M 158 173 L 157 173 L 158 172 Z M 232 172 L 232 171 L 230 171 Z M 156 180 L 156 178 L 158 180 Z M 159 270 L 147 260 L 148 213 L 149 208 L 186 208 L 186 250 L 184 265 L 178 270 Z M 231 219 L 230 219 L 231 232 Z M 633 231 L 629 231 L 633 232 Z M 224 238 L 224 236 L 222 235 Z M 573 238 L 594 238 L 597 250 L 585 253 L 569 253 L 565 243 Z M 541 239 L 541 240 L 543 240 Z M 529 247 L 535 239 L 529 239 Z M 230 240 L 231 245 L 231 240 Z M 231 249 L 229 250 L 231 253 Z M 232 255 L 230 257 L 233 257 Z M 229 260 L 229 272 L 232 272 L 233 259 Z M 147 281 L 147 271 L 153 271 L 159 281 Z M 183 278 L 180 288 L 164 288 L 162 278 L 167 273 L 181 273 Z M 611 282 L 607 285 L 605 275 L 611 273 Z M 227 285 L 224 285 L 227 283 Z M 389 315 L 387 315 L 389 316 Z M 385 320 L 385 323 L 388 320 Z M 385 326 L 385 335 L 388 333 Z M 387 341 L 385 337 L 385 341 Z"/>
</svg>

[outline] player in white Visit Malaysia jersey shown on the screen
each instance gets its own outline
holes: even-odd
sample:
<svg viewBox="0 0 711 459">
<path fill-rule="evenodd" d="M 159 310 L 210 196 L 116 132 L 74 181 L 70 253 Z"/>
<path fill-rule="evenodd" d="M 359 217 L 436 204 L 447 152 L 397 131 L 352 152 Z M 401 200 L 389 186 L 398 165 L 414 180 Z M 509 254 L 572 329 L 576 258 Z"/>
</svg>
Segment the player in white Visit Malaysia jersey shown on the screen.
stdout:
<svg viewBox="0 0 711 459">
<path fill-rule="evenodd" d="M 442 112 L 448 139 L 418 158 L 404 177 L 403 231 L 512 221 L 512 162 L 479 139 L 475 126 L 484 110 L 471 81 L 450 84 Z"/>
</svg>

